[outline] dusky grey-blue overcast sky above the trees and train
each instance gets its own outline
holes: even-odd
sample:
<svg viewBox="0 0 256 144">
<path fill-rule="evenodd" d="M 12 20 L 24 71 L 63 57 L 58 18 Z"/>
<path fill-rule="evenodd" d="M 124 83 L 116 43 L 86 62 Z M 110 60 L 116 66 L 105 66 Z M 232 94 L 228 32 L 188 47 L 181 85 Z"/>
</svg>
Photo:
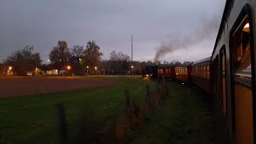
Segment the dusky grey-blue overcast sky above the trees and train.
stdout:
<svg viewBox="0 0 256 144">
<path fill-rule="evenodd" d="M 131 34 L 134 61 L 153 61 L 162 44 L 168 43 L 167 47 L 176 48 L 168 47 L 172 50 L 165 52 L 160 61 L 195 62 L 212 53 L 225 2 L 2 0 L 0 62 L 27 45 L 33 45 L 34 52 L 39 52 L 43 62 L 47 62 L 50 50 L 59 40 L 65 40 L 70 48 L 86 46 L 86 42 L 94 40 L 101 48 L 102 59 L 110 58 L 112 50 L 130 55 Z M 217 26 L 207 31 L 212 23 Z M 203 38 L 198 36 L 202 31 Z M 197 42 L 186 42 L 190 38 Z M 173 45 L 174 42 L 179 43 Z"/>
</svg>

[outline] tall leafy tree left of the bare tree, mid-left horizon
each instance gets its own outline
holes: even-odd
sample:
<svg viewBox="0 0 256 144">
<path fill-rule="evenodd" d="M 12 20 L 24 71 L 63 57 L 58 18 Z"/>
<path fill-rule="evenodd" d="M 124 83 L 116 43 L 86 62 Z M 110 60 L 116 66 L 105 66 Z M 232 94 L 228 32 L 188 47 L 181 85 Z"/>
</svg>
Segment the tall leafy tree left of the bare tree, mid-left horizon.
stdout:
<svg viewBox="0 0 256 144">
<path fill-rule="evenodd" d="M 52 66 L 58 69 L 58 73 L 64 66 L 68 65 L 70 63 L 70 50 L 66 41 L 58 41 L 58 46 L 50 51 L 49 58 Z"/>
</svg>

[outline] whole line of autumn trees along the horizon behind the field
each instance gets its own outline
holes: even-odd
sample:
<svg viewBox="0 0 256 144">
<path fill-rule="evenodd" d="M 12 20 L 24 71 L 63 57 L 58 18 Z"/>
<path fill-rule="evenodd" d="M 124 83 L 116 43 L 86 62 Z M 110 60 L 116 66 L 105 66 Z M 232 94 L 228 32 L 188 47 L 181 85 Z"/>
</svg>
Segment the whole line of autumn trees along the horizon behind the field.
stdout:
<svg viewBox="0 0 256 144">
<path fill-rule="evenodd" d="M 17 75 L 26 75 L 27 71 L 36 68 L 46 70 L 66 70 L 70 66 L 70 72 L 77 75 L 86 74 L 134 74 L 141 73 L 141 66 L 158 65 L 159 62 L 130 62 L 130 56 L 122 52 L 112 51 L 109 59 L 102 59 L 100 47 L 94 41 L 89 41 L 86 46 L 69 47 L 66 41 L 58 41 L 57 46 L 50 51 L 49 60 L 42 63 L 39 53 L 34 53 L 34 46 L 25 46 L 21 50 L 12 52 L 4 60 L 6 66 L 12 66 Z M 181 62 L 163 62 L 163 65 Z M 133 68 L 131 68 L 133 66 Z"/>
</svg>

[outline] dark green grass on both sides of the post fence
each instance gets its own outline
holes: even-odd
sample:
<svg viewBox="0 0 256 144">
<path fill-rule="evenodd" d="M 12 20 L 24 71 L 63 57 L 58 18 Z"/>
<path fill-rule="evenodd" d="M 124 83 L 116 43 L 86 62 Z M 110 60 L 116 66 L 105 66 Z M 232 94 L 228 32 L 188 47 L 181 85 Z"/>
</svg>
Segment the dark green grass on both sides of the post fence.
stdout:
<svg viewBox="0 0 256 144">
<path fill-rule="evenodd" d="M 57 104 L 66 107 L 69 139 L 77 138 L 79 123 L 87 132 L 110 127 L 124 109 L 124 90 L 137 102 L 146 95 L 141 78 L 97 78 L 114 86 L 73 90 L 0 100 L 0 143 L 58 143 Z M 168 83 L 170 95 L 122 143 L 214 143 L 215 131 L 206 95 L 177 83 Z M 64 88 L 65 89 L 65 88 Z"/>
</svg>

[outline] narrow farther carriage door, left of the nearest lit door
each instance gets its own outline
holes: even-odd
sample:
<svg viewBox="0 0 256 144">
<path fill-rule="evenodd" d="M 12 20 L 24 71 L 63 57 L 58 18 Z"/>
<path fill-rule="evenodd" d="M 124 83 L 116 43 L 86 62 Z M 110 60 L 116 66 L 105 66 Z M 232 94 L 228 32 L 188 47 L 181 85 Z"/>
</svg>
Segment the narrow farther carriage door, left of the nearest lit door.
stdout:
<svg viewBox="0 0 256 144">
<path fill-rule="evenodd" d="M 221 78 L 221 104 L 222 104 L 222 111 L 226 118 L 226 51 L 225 47 L 222 48 L 220 52 L 220 78 Z"/>
</svg>

